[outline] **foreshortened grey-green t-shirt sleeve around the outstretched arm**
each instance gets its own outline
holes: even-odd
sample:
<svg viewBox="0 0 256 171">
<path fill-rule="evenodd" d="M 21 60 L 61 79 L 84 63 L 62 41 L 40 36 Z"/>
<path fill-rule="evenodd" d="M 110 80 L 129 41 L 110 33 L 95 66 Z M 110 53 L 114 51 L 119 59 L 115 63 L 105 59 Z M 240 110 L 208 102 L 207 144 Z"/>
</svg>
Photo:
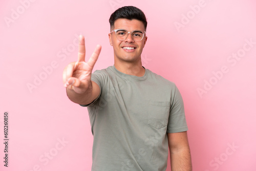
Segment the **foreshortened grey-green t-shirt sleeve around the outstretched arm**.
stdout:
<svg viewBox="0 0 256 171">
<path fill-rule="evenodd" d="M 103 72 L 99 71 L 99 70 L 96 70 L 94 73 L 92 73 L 91 80 L 98 84 L 98 86 L 100 88 L 99 96 L 95 100 L 93 100 L 93 102 L 91 102 L 90 104 L 79 104 L 80 106 L 83 106 L 83 107 L 93 106 L 95 104 L 95 102 L 99 99 L 100 95 L 101 95 L 102 85 L 103 85 L 103 81 L 104 81 L 104 74 L 103 74 Z"/>
</svg>

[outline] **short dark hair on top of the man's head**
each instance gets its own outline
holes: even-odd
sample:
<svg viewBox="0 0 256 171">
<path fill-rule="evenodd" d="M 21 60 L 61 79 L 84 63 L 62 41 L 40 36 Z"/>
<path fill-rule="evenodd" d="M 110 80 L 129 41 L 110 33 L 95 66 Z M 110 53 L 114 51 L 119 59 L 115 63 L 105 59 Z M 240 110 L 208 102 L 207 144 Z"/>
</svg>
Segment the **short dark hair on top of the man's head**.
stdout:
<svg viewBox="0 0 256 171">
<path fill-rule="evenodd" d="M 115 12 L 113 12 L 110 16 L 109 22 L 110 22 L 110 28 L 114 27 L 115 20 L 119 18 L 125 18 L 125 19 L 138 19 L 141 21 L 144 25 L 144 28 L 146 30 L 147 22 L 146 22 L 146 16 L 139 8 L 134 6 L 124 6 L 121 8 L 118 8 Z"/>
</svg>

